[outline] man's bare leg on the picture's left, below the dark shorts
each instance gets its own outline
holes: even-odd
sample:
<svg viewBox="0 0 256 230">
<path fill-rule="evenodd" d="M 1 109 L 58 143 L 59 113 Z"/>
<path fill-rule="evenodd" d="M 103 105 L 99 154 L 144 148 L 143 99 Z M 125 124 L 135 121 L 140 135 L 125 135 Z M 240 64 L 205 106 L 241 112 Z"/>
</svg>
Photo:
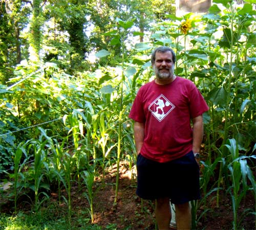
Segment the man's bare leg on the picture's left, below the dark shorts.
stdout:
<svg viewBox="0 0 256 230">
<path fill-rule="evenodd" d="M 156 221 L 158 229 L 169 229 L 170 224 L 170 203 L 169 198 L 156 199 Z"/>
</svg>

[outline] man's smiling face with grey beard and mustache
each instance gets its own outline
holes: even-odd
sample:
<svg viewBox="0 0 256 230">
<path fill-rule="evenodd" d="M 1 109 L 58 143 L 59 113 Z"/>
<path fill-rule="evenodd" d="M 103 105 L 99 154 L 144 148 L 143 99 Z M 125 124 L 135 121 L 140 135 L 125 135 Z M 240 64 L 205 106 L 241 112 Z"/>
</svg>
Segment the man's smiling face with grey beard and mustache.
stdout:
<svg viewBox="0 0 256 230">
<path fill-rule="evenodd" d="M 153 69 L 158 79 L 173 78 L 174 63 L 172 53 L 170 51 L 165 53 L 157 52 Z"/>
</svg>

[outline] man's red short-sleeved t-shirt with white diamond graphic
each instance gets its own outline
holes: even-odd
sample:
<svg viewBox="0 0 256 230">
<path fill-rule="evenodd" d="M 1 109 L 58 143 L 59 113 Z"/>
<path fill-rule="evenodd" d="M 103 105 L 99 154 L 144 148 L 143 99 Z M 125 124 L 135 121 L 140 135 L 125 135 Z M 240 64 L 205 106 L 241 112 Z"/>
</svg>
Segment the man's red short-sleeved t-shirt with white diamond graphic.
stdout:
<svg viewBox="0 0 256 230">
<path fill-rule="evenodd" d="M 209 108 L 190 80 L 177 77 L 166 85 L 155 81 L 143 85 L 129 117 L 144 123 L 140 154 L 156 162 L 180 158 L 192 150 L 190 120 Z"/>
</svg>

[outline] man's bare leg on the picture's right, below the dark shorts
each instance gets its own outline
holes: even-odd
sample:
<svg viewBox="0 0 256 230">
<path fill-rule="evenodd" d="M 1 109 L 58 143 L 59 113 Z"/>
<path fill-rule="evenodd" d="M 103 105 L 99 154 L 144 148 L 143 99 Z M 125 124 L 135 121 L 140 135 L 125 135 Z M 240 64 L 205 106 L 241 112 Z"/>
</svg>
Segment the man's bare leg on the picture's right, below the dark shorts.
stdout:
<svg viewBox="0 0 256 230">
<path fill-rule="evenodd" d="M 175 204 L 177 229 L 191 229 L 191 209 L 189 203 Z"/>
</svg>

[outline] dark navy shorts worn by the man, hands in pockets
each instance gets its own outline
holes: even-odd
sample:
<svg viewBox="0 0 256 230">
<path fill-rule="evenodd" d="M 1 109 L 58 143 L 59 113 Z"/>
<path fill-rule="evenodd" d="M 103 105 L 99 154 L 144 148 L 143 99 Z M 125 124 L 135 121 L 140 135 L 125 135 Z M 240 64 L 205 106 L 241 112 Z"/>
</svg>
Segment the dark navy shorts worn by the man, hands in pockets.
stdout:
<svg viewBox="0 0 256 230">
<path fill-rule="evenodd" d="M 169 197 L 182 204 L 200 199 L 199 166 L 193 152 L 167 163 L 138 155 L 136 194 L 148 200 Z"/>
</svg>

